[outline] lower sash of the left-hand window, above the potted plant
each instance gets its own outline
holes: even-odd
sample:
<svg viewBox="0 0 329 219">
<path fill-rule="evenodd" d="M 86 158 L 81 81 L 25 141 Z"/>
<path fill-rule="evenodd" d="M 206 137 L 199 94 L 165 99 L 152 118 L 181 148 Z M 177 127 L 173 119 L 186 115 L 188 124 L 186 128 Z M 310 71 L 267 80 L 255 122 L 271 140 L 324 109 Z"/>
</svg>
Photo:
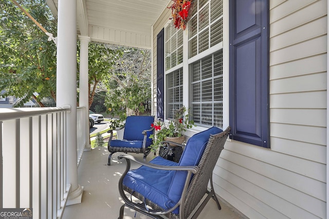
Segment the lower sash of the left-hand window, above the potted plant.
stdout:
<svg viewBox="0 0 329 219">
<path fill-rule="evenodd" d="M 166 76 L 167 82 L 167 118 L 173 118 L 175 109 L 183 105 L 183 72 L 182 68 Z"/>
</svg>

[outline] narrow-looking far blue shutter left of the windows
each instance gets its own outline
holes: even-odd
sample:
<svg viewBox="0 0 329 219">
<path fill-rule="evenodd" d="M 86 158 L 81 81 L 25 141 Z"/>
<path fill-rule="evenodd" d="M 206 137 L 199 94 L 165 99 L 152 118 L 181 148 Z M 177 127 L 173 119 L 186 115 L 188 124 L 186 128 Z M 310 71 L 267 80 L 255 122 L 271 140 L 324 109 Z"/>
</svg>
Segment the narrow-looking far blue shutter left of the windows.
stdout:
<svg viewBox="0 0 329 219">
<path fill-rule="evenodd" d="M 156 87 L 157 87 L 157 117 L 165 118 L 165 29 L 162 29 L 157 35 L 157 70 L 156 70 Z"/>
</svg>

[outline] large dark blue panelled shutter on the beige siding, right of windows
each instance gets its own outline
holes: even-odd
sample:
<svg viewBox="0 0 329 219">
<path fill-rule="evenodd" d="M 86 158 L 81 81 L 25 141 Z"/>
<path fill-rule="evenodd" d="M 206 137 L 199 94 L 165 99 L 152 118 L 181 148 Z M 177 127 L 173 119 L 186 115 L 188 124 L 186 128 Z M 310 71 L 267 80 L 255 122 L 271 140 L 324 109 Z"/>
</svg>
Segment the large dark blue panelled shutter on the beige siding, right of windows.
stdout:
<svg viewBox="0 0 329 219">
<path fill-rule="evenodd" d="M 269 148 L 269 1 L 229 8 L 230 138 Z"/>
</svg>

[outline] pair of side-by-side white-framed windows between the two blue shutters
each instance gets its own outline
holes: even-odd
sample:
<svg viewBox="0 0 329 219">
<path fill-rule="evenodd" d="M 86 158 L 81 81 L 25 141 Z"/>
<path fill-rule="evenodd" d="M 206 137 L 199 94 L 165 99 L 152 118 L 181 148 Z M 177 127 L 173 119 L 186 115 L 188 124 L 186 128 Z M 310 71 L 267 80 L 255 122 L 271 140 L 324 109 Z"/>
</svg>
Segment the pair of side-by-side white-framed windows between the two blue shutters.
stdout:
<svg viewBox="0 0 329 219">
<path fill-rule="evenodd" d="M 187 33 L 165 27 L 165 118 L 185 105 L 197 126 L 223 128 L 223 0 L 195 0 L 190 13 Z"/>
</svg>

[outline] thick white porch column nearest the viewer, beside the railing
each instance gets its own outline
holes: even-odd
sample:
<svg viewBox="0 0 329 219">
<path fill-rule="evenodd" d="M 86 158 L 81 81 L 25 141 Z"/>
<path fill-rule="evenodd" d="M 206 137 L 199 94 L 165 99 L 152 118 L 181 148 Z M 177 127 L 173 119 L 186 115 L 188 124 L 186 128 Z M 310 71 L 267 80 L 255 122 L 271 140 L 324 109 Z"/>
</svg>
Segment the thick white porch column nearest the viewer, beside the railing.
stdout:
<svg viewBox="0 0 329 219">
<path fill-rule="evenodd" d="M 58 1 L 56 105 L 70 106 L 66 118 L 66 183 L 71 185 L 67 205 L 81 203 L 77 166 L 77 1 Z"/>
</svg>

